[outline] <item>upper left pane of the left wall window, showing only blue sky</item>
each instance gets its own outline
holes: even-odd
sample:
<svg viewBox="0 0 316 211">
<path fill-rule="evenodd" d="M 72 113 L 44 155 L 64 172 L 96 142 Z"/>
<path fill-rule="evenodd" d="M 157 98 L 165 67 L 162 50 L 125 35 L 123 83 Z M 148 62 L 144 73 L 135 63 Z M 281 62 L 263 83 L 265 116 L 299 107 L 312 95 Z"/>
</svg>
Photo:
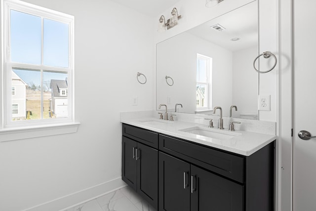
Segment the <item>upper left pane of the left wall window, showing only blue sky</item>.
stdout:
<svg viewBox="0 0 316 211">
<path fill-rule="evenodd" d="M 10 10 L 11 61 L 41 63 L 41 19 L 38 16 Z"/>
</svg>

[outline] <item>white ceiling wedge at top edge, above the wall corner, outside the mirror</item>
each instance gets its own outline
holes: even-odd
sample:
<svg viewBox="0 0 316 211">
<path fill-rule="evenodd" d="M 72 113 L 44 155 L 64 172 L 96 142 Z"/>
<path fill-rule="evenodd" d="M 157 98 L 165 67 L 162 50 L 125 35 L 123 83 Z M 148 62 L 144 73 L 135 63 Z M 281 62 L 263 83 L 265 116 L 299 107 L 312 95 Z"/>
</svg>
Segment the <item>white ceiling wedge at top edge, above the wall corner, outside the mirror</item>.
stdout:
<svg viewBox="0 0 316 211">
<path fill-rule="evenodd" d="M 112 0 L 151 17 L 156 17 L 180 0 Z M 171 12 L 171 11 L 170 11 Z"/>
</svg>

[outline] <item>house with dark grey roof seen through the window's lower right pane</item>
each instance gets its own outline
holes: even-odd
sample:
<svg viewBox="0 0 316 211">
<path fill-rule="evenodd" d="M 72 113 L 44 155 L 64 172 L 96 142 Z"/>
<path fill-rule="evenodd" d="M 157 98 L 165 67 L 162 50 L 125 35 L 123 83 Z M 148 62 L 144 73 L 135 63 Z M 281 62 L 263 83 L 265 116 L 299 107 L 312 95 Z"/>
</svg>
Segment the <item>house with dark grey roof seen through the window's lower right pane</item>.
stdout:
<svg viewBox="0 0 316 211">
<path fill-rule="evenodd" d="M 55 117 L 68 117 L 68 83 L 66 80 L 51 80 L 50 110 Z"/>
</svg>

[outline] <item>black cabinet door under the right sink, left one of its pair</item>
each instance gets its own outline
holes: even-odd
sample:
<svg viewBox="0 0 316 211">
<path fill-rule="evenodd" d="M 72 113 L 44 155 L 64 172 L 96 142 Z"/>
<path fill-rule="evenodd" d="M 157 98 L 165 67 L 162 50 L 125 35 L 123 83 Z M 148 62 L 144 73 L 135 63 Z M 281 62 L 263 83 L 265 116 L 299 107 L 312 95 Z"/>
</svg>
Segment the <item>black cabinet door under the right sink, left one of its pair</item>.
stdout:
<svg viewBox="0 0 316 211">
<path fill-rule="evenodd" d="M 159 211 L 190 211 L 190 164 L 159 152 Z"/>
</svg>

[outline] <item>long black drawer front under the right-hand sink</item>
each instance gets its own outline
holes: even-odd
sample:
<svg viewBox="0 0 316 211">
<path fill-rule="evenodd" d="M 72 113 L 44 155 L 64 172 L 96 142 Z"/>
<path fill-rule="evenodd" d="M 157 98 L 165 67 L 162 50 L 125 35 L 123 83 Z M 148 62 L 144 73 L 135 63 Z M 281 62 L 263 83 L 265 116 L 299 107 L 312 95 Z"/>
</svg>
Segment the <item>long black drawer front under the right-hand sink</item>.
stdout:
<svg viewBox="0 0 316 211">
<path fill-rule="evenodd" d="M 165 135 L 159 135 L 159 150 L 238 182 L 244 182 L 242 157 Z"/>
</svg>

